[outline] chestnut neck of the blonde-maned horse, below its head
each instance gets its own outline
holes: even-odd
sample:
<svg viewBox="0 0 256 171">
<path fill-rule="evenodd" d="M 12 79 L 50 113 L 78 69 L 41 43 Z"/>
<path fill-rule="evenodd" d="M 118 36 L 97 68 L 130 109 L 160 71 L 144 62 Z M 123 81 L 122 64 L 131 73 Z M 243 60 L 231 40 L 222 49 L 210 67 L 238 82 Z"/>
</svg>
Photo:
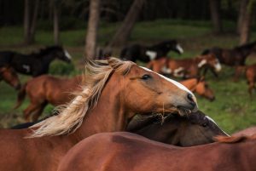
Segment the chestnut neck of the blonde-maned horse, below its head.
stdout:
<svg viewBox="0 0 256 171">
<path fill-rule="evenodd" d="M 117 82 L 109 81 L 103 88 L 97 105 L 86 113 L 81 127 L 73 133 L 76 138 L 82 140 L 91 134 L 125 130 L 128 113 L 122 105 Z"/>
</svg>

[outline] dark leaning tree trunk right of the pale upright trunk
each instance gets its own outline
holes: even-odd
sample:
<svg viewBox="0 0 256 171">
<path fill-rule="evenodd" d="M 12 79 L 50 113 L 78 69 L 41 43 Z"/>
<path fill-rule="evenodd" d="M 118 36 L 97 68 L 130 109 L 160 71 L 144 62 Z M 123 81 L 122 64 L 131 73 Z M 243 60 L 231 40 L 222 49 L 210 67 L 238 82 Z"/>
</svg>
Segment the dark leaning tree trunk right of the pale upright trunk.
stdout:
<svg viewBox="0 0 256 171">
<path fill-rule="evenodd" d="M 134 0 L 131 4 L 131 8 L 125 16 L 125 20 L 122 25 L 119 27 L 119 30 L 116 31 L 113 39 L 108 44 L 108 47 L 119 48 L 125 45 L 128 38 L 131 35 L 131 30 L 135 25 L 138 15 L 143 9 L 143 4 L 146 0 Z"/>
</svg>

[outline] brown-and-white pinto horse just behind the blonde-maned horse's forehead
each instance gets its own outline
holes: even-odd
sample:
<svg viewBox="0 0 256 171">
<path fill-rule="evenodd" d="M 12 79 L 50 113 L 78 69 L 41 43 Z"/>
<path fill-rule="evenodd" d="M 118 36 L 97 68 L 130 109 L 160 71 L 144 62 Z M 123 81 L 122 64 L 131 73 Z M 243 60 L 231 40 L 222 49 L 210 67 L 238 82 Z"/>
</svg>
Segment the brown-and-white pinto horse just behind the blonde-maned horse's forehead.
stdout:
<svg viewBox="0 0 256 171">
<path fill-rule="evenodd" d="M 221 65 L 213 54 L 206 54 L 190 59 L 174 60 L 164 59 L 152 60 L 147 67 L 161 74 L 172 75 L 173 77 L 199 77 L 204 69 L 204 75 L 207 69 L 217 77 L 218 71 L 221 71 Z"/>
</svg>

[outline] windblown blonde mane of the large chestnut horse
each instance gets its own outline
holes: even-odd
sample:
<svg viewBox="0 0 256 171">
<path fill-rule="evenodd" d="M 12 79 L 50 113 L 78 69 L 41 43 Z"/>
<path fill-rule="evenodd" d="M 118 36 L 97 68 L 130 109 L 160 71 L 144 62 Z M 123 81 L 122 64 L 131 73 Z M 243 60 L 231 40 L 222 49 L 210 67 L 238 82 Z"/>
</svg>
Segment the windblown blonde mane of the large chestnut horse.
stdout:
<svg viewBox="0 0 256 171">
<path fill-rule="evenodd" d="M 76 97 L 67 105 L 61 105 L 55 108 L 58 115 L 49 117 L 44 121 L 33 125 L 35 128 L 29 136 L 43 137 L 61 134 L 72 134 L 83 123 L 87 111 L 95 106 L 102 94 L 102 89 L 108 81 L 113 71 L 121 72 L 123 75 L 128 73 L 131 61 L 122 61 L 116 58 L 110 58 L 107 63 L 96 63 L 88 61 L 85 65 L 84 86 L 76 94 Z"/>
</svg>

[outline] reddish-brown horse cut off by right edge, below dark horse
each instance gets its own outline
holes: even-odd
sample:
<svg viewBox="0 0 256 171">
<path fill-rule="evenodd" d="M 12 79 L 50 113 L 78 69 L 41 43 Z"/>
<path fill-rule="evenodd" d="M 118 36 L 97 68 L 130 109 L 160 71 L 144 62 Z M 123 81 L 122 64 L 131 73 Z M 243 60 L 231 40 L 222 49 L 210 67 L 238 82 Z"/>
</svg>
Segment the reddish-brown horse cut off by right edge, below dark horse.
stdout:
<svg viewBox="0 0 256 171">
<path fill-rule="evenodd" d="M 253 64 L 251 66 L 246 66 L 246 77 L 247 77 L 247 84 L 248 84 L 248 92 L 252 99 L 253 98 L 253 89 L 256 89 L 256 87 L 255 87 L 256 64 Z"/>
</svg>

